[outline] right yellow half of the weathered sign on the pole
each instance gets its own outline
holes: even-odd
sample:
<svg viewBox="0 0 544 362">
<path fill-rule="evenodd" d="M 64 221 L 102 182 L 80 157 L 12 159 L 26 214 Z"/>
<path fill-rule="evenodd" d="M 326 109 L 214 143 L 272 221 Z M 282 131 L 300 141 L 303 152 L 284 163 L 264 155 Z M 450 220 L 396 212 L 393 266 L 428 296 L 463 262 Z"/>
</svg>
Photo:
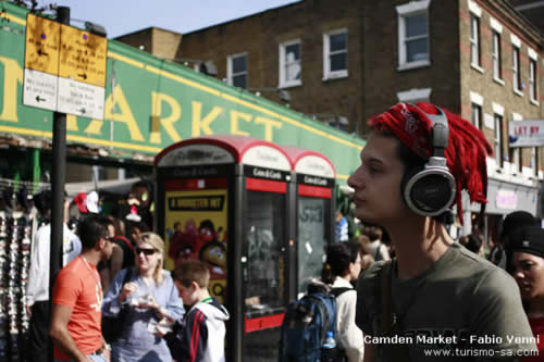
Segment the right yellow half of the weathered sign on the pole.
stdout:
<svg viewBox="0 0 544 362">
<path fill-rule="evenodd" d="M 108 39 L 61 25 L 59 76 L 106 86 Z"/>
</svg>

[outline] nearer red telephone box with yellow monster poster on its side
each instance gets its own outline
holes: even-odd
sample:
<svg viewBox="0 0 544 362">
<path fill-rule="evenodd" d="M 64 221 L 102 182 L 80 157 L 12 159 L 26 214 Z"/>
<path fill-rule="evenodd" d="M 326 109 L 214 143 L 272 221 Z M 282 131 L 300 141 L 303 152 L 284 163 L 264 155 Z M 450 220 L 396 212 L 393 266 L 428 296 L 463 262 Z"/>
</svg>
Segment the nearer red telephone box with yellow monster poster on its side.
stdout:
<svg viewBox="0 0 544 362">
<path fill-rule="evenodd" d="M 200 137 L 164 149 L 154 166 L 166 267 L 208 263 L 210 291 L 231 313 L 227 361 L 274 359 L 290 299 L 287 235 L 296 219 L 285 151 L 244 136 Z"/>
</svg>

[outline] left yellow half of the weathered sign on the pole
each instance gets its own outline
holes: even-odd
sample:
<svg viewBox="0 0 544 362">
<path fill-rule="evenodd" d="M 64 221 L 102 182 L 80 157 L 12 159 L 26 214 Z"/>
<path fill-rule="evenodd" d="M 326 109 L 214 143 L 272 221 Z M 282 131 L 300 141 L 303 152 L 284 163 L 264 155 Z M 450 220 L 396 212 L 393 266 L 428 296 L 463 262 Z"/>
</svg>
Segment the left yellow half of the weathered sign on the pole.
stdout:
<svg viewBox="0 0 544 362">
<path fill-rule="evenodd" d="M 28 14 L 26 16 L 25 67 L 57 75 L 60 34 L 60 23 Z"/>
</svg>

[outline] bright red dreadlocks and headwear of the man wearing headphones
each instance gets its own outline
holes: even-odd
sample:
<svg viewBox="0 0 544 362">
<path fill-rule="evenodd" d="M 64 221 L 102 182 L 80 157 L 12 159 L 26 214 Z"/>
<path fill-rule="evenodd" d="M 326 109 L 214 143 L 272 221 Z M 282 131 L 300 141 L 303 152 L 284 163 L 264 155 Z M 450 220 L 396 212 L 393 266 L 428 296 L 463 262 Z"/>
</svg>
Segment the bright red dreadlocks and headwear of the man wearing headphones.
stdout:
<svg viewBox="0 0 544 362">
<path fill-rule="evenodd" d="M 421 112 L 423 111 L 423 112 Z M 374 115 L 369 125 L 376 130 L 388 129 L 416 154 L 426 160 L 433 153 L 431 142 L 433 122 L 425 115 L 438 114 L 436 105 L 420 102 L 417 107 L 397 103 L 387 112 Z M 447 166 L 456 182 L 456 203 L 462 224 L 461 190 L 467 190 L 471 202 L 487 200 L 487 166 L 485 157 L 493 149 L 484 135 L 470 122 L 444 110 L 448 122 L 448 146 L 445 151 Z"/>
</svg>

